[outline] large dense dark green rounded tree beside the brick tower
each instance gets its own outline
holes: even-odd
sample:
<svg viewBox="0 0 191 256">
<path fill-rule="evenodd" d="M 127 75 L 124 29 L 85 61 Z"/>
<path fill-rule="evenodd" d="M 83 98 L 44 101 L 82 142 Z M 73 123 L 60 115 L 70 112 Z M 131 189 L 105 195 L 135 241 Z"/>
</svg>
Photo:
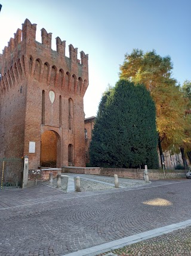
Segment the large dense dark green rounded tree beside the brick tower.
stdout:
<svg viewBox="0 0 191 256">
<path fill-rule="evenodd" d="M 90 144 L 92 166 L 158 168 L 155 104 L 143 85 L 119 80 L 101 98 Z"/>
</svg>

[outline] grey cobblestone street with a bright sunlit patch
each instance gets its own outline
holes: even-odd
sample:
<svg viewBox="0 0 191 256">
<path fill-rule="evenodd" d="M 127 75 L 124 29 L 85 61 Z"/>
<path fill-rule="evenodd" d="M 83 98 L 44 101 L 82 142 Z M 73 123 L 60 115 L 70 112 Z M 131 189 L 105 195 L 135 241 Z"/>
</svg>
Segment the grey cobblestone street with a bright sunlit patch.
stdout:
<svg viewBox="0 0 191 256">
<path fill-rule="evenodd" d="M 80 255 L 85 248 L 186 221 L 191 211 L 190 182 L 161 180 L 144 186 L 70 193 L 44 184 L 1 191 L 0 255 Z M 187 239 L 186 233 L 183 237 Z M 143 243 L 147 245 L 149 240 Z M 181 255 L 190 255 L 189 240 L 186 243 L 187 254 Z M 135 250 L 131 254 L 116 255 L 155 255 L 138 254 L 139 244 L 131 245 L 131 251 Z"/>
</svg>

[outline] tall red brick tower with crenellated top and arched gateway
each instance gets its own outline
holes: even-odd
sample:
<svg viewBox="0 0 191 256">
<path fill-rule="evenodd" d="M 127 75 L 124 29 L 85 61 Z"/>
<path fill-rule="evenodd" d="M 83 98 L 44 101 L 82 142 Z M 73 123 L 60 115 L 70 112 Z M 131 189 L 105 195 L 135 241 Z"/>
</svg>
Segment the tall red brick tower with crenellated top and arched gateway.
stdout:
<svg viewBox="0 0 191 256">
<path fill-rule="evenodd" d="M 0 55 L 0 158 L 29 156 L 39 166 L 85 166 L 84 103 L 88 55 L 28 19 Z"/>
</svg>

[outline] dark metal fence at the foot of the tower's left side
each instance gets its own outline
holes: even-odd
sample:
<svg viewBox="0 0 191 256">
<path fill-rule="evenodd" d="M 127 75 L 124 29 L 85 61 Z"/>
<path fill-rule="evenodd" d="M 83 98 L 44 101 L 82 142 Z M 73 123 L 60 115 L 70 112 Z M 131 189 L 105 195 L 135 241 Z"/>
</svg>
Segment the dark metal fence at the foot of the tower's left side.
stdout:
<svg viewBox="0 0 191 256">
<path fill-rule="evenodd" d="M 23 178 L 23 158 L 0 158 L 1 190 L 19 188 Z"/>
</svg>

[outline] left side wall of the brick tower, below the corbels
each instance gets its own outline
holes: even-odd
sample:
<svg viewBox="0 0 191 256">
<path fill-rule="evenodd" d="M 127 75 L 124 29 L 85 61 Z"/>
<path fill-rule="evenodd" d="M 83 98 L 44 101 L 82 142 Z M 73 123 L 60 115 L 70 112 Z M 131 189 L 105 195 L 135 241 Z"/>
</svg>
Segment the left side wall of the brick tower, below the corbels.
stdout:
<svg viewBox="0 0 191 256">
<path fill-rule="evenodd" d="M 23 156 L 26 85 L 11 81 L 0 96 L 0 157 Z"/>
</svg>

